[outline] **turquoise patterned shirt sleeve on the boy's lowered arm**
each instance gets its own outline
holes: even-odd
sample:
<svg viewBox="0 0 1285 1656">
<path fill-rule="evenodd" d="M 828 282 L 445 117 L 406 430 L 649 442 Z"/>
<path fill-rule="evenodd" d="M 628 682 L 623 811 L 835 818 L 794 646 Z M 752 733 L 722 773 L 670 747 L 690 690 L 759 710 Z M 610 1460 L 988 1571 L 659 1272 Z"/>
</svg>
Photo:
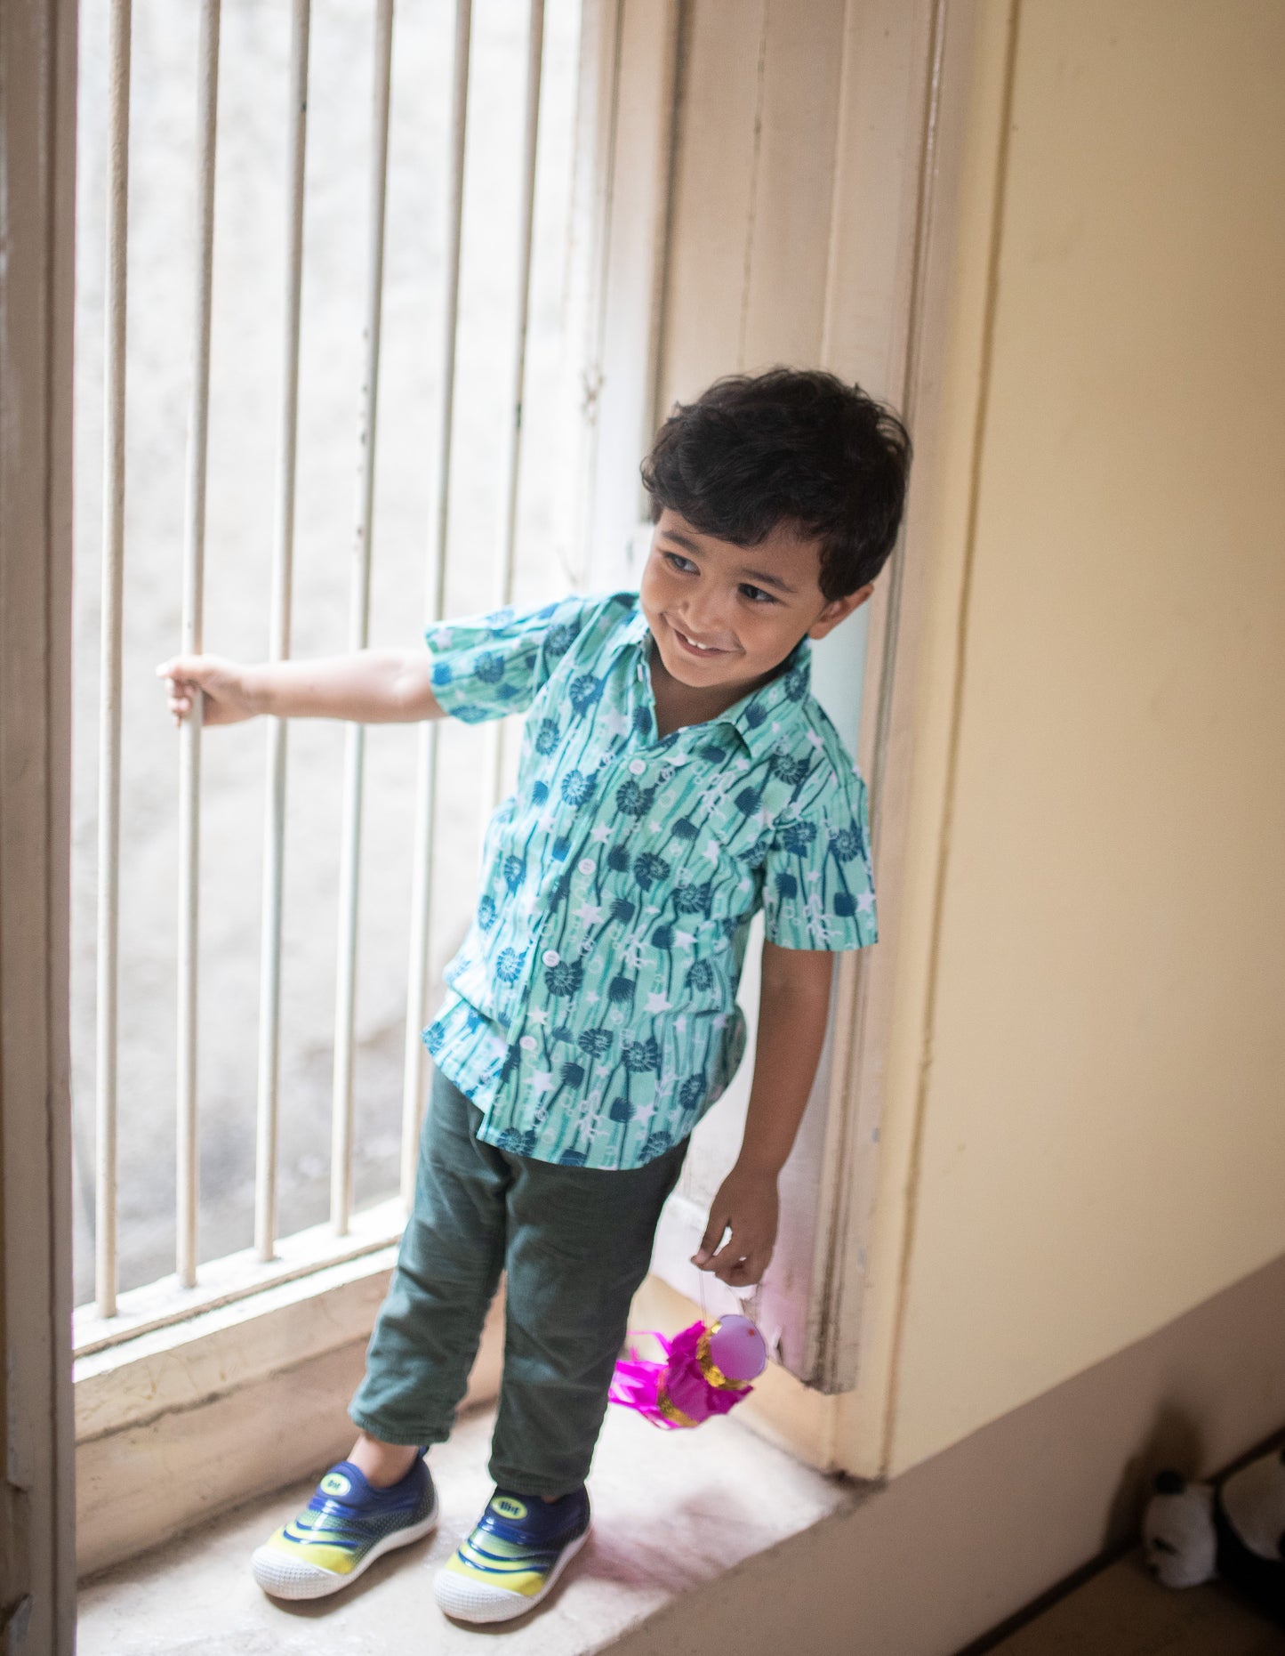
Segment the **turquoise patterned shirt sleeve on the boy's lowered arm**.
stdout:
<svg viewBox="0 0 1285 1656">
<path fill-rule="evenodd" d="M 780 949 L 864 949 L 878 937 L 866 783 L 821 767 L 773 826 L 763 866 L 763 936 Z"/>
</svg>

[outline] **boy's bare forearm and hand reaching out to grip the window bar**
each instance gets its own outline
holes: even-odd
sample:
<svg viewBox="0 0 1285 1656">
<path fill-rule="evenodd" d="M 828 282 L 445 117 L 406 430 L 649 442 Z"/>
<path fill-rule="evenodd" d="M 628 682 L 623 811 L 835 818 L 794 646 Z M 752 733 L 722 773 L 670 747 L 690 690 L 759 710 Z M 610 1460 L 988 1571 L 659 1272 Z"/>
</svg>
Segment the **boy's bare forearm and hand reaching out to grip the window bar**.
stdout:
<svg viewBox="0 0 1285 1656">
<path fill-rule="evenodd" d="M 255 714 L 278 719 L 353 719 L 358 724 L 409 724 L 440 719 L 432 694 L 432 657 L 426 649 L 363 649 L 316 661 L 243 666 L 225 656 L 174 656 L 156 669 L 169 681 L 174 724 L 204 697 L 202 724 L 237 724 Z"/>
</svg>

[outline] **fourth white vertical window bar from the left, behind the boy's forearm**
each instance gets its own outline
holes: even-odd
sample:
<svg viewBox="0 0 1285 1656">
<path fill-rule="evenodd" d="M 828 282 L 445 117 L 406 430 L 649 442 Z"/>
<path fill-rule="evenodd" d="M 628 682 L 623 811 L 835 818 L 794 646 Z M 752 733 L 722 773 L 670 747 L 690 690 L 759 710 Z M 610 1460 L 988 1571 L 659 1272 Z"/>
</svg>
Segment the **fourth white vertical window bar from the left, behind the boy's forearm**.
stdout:
<svg viewBox="0 0 1285 1656">
<path fill-rule="evenodd" d="M 364 649 L 371 611 L 371 522 L 374 512 L 379 330 L 384 293 L 384 209 L 387 200 L 387 118 L 392 78 L 392 0 L 379 0 L 374 25 L 374 129 L 371 141 L 371 222 L 366 277 L 366 363 L 358 416 L 358 525 L 353 548 L 349 649 Z M 358 873 L 361 782 L 366 729 L 349 724 L 344 740 L 343 848 L 339 854 L 339 960 L 334 992 L 334 1101 L 331 1113 L 330 1217 L 348 1234 L 353 1206 L 353 1038 L 356 1025 Z"/>
</svg>

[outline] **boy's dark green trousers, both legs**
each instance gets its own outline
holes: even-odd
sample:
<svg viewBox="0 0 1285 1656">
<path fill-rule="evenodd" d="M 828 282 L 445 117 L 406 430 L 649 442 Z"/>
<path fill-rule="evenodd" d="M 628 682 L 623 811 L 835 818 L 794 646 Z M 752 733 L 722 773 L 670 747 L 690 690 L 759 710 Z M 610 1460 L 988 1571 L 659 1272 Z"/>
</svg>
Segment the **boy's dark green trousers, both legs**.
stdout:
<svg viewBox="0 0 1285 1656">
<path fill-rule="evenodd" d="M 525 1495 L 565 1495 L 590 1471 L 629 1302 L 687 1141 L 609 1172 L 510 1156 L 477 1139 L 480 1121 L 434 1071 L 414 1212 L 348 1413 L 384 1442 L 442 1442 L 503 1270 L 490 1475 Z"/>
</svg>

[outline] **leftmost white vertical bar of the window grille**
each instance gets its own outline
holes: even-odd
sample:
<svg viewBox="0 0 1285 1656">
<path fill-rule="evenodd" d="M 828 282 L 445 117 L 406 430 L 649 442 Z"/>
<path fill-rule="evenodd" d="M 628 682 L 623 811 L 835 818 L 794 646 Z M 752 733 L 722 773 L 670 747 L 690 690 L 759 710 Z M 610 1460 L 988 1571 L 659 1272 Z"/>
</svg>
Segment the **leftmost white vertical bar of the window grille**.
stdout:
<svg viewBox="0 0 1285 1656">
<path fill-rule="evenodd" d="M 103 363 L 103 619 L 98 735 L 98 1105 L 94 1297 L 116 1315 L 116 985 L 121 921 L 121 619 L 124 596 L 124 351 L 129 247 L 131 0 L 114 0 L 108 48 L 108 280 Z"/>
</svg>

